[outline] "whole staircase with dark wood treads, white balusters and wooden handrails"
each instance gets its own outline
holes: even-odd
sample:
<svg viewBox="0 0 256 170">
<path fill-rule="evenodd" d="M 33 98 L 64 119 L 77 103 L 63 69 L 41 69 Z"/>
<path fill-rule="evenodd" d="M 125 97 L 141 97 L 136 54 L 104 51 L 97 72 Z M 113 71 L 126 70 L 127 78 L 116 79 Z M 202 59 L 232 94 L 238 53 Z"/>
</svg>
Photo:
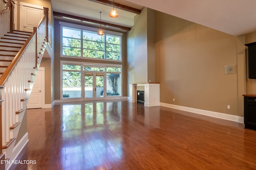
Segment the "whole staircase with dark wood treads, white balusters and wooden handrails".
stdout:
<svg viewBox="0 0 256 170">
<path fill-rule="evenodd" d="M 28 142 L 27 133 L 20 133 L 20 127 L 50 29 L 48 8 L 44 8 L 44 17 L 33 33 L 13 30 L 12 2 L 1 1 L 4 5 L 0 3 L 0 7 L 4 9 L 0 9 L 0 170 L 10 168 Z M 17 139 L 19 133 L 21 139 Z"/>
</svg>

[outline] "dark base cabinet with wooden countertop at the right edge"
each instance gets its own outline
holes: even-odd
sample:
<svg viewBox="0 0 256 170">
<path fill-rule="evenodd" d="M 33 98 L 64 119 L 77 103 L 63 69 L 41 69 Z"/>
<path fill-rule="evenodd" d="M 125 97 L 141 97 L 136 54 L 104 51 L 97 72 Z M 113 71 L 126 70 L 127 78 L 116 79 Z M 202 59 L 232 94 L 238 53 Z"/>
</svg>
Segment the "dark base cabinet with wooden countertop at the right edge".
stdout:
<svg viewBox="0 0 256 170">
<path fill-rule="evenodd" d="M 244 127 L 256 130 L 256 96 L 244 96 Z"/>
</svg>

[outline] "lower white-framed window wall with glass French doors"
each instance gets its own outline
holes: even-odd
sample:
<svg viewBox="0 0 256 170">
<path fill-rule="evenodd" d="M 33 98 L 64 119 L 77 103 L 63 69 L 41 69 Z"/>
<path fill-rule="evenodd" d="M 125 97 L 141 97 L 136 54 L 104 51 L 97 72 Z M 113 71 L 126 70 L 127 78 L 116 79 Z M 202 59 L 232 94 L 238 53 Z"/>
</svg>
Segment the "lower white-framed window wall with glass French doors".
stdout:
<svg viewBox="0 0 256 170">
<path fill-rule="evenodd" d="M 121 65 L 61 61 L 61 67 L 62 98 L 121 96 Z"/>
</svg>

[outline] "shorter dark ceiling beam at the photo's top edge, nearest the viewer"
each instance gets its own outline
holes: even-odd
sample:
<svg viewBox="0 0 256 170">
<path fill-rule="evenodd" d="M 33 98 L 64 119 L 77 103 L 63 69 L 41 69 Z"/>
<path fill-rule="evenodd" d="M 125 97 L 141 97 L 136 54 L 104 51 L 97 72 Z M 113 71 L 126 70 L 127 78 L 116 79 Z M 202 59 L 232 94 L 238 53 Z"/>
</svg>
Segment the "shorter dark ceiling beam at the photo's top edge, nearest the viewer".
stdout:
<svg viewBox="0 0 256 170">
<path fill-rule="evenodd" d="M 112 1 L 109 1 L 109 0 L 89 0 L 89 1 L 97 2 L 99 4 L 103 4 L 103 5 L 106 5 L 106 6 L 113 6 L 114 5 L 115 8 L 118 8 L 118 9 L 124 10 L 124 11 L 128 11 L 128 12 L 132 12 L 132 13 L 135 13 L 135 14 L 140 14 L 141 13 L 141 10 L 139 10 L 139 9 L 132 8 L 130 6 L 125 6 L 125 5 L 122 5 L 122 4 L 118 4 L 116 2 L 112 2 Z"/>
</svg>

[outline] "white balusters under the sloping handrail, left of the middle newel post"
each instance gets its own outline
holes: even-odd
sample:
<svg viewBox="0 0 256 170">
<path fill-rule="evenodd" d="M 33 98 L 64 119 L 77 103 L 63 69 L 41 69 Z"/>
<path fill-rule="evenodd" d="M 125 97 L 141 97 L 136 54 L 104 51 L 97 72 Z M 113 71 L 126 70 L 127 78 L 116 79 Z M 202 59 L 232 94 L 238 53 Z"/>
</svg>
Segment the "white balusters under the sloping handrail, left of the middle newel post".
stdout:
<svg viewBox="0 0 256 170">
<path fill-rule="evenodd" d="M 2 89 L 2 145 L 6 145 L 10 139 L 15 138 L 10 133 L 10 127 L 17 122 L 18 116 L 16 111 L 26 109 L 26 98 L 30 95 L 30 83 L 28 80 L 32 80 L 31 73 L 34 72 L 34 63 L 36 62 L 36 35 L 32 37 L 24 53 L 20 56 L 20 60 L 13 68 L 12 72 L 8 76 L 8 79 L 4 83 L 4 89 Z M 24 100 L 24 102 L 21 102 Z"/>
</svg>

